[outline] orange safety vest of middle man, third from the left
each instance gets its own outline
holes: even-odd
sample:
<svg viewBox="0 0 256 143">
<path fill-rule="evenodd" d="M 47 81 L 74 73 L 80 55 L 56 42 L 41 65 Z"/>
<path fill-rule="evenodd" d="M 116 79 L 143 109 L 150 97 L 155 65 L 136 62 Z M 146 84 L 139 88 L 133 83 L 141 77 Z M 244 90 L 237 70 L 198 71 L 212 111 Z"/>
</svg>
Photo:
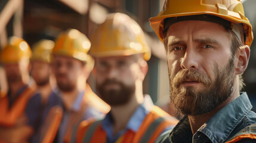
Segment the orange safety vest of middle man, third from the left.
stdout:
<svg viewBox="0 0 256 143">
<path fill-rule="evenodd" d="M 110 110 L 110 106 L 107 105 L 106 102 L 101 100 L 96 94 L 94 94 L 90 86 L 87 85 L 85 95 L 81 102 L 80 110 L 78 112 L 72 112 L 69 121 L 67 122 L 66 132 L 63 139 L 64 142 L 70 142 L 75 140 L 76 130 L 88 107 L 97 108 L 103 113 L 107 113 Z M 60 107 L 59 105 L 53 107 L 50 113 L 48 113 L 47 119 L 44 122 L 41 132 L 40 141 L 42 143 L 54 141 L 57 130 L 60 126 L 62 116 L 63 110 L 62 107 Z"/>
</svg>

